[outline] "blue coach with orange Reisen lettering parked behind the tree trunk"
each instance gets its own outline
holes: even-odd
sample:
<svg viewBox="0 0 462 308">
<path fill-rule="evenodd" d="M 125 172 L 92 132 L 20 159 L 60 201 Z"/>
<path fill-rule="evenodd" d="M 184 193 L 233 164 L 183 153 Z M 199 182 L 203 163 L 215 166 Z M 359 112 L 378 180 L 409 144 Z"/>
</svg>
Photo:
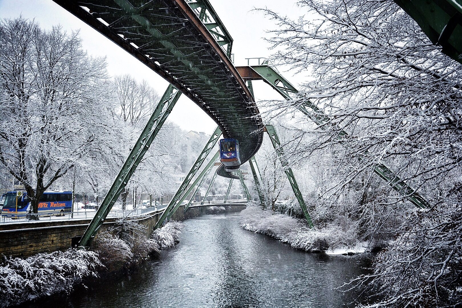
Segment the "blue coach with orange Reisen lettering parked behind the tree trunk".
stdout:
<svg viewBox="0 0 462 308">
<path fill-rule="evenodd" d="M 12 218 L 24 217 L 30 210 L 27 193 L 14 191 L 1 195 L 4 199 L 2 215 Z M 72 211 L 72 192 L 45 192 L 38 202 L 38 214 L 64 216 Z"/>
</svg>

